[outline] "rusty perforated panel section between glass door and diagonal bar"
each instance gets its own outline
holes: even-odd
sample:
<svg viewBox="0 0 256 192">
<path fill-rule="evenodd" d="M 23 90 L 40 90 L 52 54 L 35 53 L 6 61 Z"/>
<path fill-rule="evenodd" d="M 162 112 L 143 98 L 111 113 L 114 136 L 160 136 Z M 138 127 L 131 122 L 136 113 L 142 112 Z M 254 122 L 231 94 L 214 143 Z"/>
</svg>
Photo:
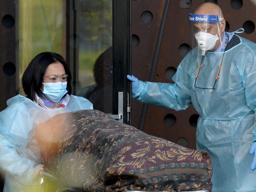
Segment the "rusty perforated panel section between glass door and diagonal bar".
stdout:
<svg viewBox="0 0 256 192">
<path fill-rule="evenodd" d="M 132 73 L 142 81 L 148 81 L 153 62 L 154 50 L 158 39 L 160 23 L 165 1 L 133 0 L 132 1 L 132 34 L 140 39 L 139 45 L 132 49 Z M 150 11 L 153 20 L 149 24 L 141 22 L 141 14 Z M 132 100 L 132 125 L 139 127 L 142 103 Z"/>
</svg>

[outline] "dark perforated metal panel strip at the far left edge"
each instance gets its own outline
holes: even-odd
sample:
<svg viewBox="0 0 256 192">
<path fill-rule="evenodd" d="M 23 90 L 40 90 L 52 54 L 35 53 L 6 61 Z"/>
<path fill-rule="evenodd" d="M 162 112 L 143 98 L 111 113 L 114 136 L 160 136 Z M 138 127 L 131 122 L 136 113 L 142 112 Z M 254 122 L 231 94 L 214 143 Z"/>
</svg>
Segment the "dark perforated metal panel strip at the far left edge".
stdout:
<svg viewBox="0 0 256 192">
<path fill-rule="evenodd" d="M 17 20 L 15 18 L 14 0 L 2 0 L 0 6 L 0 111 L 6 108 L 6 100 L 15 96 L 16 92 L 16 39 L 15 29 Z M 17 41 L 19 42 L 19 41 Z M 16 70 L 16 72 L 15 72 Z"/>
</svg>

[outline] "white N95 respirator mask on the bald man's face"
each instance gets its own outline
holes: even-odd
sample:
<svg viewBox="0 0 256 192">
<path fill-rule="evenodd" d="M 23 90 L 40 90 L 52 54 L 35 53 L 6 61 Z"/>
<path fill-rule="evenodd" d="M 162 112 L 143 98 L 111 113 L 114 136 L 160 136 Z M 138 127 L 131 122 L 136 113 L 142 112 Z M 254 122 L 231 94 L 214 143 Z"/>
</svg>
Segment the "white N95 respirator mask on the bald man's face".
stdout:
<svg viewBox="0 0 256 192">
<path fill-rule="evenodd" d="M 212 35 L 211 33 L 205 33 L 202 31 L 195 33 L 195 38 L 199 48 L 203 51 L 212 50 L 216 41 L 219 39 L 217 34 Z"/>
</svg>

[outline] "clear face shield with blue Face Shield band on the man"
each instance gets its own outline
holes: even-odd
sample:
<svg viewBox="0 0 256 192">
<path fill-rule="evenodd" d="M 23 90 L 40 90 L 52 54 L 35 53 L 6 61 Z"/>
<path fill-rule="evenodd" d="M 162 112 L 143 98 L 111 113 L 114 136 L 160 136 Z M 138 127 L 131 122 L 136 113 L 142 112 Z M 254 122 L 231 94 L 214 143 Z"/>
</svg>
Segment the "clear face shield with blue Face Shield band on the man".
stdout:
<svg viewBox="0 0 256 192">
<path fill-rule="evenodd" d="M 221 44 L 221 20 L 223 17 L 218 15 L 189 14 L 190 45 L 192 49 L 197 48 L 198 55 Z"/>
</svg>

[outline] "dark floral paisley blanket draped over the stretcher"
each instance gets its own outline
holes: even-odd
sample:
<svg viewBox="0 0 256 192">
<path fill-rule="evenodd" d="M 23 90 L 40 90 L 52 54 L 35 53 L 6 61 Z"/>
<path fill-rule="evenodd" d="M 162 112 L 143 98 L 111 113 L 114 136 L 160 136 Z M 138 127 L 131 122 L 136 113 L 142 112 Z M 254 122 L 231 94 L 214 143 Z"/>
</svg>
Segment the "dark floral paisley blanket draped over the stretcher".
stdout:
<svg viewBox="0 0 256 192">
<path fill-rule="evenodd" d="M 81 191 L 211 191 L 211 159 L 97 110 L 58 114 L 36 130 L 45 169 Z"/>
</svg>

